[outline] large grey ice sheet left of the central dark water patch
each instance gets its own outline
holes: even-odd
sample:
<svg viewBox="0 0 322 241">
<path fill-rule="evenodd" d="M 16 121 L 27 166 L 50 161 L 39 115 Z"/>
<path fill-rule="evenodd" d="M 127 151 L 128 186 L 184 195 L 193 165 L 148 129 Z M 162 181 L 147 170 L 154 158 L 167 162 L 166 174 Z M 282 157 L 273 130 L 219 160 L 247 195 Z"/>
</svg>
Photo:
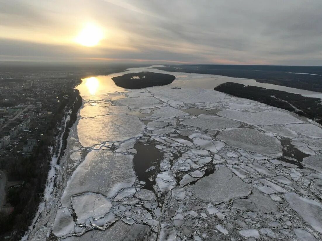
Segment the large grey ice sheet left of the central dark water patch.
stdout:
<svg viewBox="0 0 322 241">
<path fill-rule="evenodd" d="M 113 197 L 135 181 L 133 156 L 108 150 L 92 150 L 73 172 L 62 194 L 62 206 L 70 207 L 71 196 L 83 192 Z"/>
</svg>

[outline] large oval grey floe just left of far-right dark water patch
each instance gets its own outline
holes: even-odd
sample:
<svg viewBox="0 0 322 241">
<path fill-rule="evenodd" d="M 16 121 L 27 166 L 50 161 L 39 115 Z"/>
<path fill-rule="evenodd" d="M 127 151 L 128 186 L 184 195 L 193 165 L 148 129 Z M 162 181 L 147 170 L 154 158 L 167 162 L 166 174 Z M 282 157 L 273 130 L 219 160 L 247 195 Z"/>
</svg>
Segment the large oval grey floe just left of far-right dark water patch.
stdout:
<svg viewBox="0 0 322 241">
<path fill-rule="evenodd" d="M 267 136 L 262 132 L 249 128 L 224 130 L 217 136 L 218 139 L 233 147 L 254 151 L 263 155 L 282 155 L 282 145 L 275 137 Z"/>
</svg>

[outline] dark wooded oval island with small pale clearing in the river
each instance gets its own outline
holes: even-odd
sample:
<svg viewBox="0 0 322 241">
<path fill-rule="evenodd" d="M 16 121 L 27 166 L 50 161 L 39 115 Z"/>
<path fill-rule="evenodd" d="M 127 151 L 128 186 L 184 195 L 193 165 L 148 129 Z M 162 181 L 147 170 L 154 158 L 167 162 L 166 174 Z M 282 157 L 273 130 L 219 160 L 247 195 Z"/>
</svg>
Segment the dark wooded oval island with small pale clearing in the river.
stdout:
<svg viewBox="0 0 322 241">
<path fill-rule="evenodd" d="M 141 72 L 113 77 L 115 85 L 126 89 L 141 89 L 152 86 L 169 85 L 175 80 L 174 75 Z"/>
</svg>

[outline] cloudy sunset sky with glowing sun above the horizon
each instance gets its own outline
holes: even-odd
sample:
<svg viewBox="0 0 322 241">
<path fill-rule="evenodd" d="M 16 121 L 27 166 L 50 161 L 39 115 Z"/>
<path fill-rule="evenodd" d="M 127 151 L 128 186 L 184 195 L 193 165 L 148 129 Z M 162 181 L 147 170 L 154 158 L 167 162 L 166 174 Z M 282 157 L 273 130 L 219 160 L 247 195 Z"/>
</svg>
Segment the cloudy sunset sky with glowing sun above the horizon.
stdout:
<svg viewBox="0 0 322 241">
<path fill-rule="evenodd" d="M 0 60 L 322 65 L 321 13 L 321 0 L 0 0 Z"/>
</svg>

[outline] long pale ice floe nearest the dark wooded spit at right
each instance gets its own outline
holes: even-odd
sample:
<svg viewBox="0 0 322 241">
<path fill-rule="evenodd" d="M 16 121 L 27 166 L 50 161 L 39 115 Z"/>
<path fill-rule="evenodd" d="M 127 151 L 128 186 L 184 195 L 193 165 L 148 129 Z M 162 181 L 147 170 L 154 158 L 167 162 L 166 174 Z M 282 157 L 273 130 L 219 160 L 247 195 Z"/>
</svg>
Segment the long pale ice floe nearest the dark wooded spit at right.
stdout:
<svg viewBox="0 0 322 241">
<path fill-rule="evenodd" d="M 302 123 L 299 119 L 291 116 L 287 112 L 248 112 L 237 110 L 223 110 L 217 115 L 242 121 L 251 125 L 285 125 L 290 123 Z"/>
</svg>

